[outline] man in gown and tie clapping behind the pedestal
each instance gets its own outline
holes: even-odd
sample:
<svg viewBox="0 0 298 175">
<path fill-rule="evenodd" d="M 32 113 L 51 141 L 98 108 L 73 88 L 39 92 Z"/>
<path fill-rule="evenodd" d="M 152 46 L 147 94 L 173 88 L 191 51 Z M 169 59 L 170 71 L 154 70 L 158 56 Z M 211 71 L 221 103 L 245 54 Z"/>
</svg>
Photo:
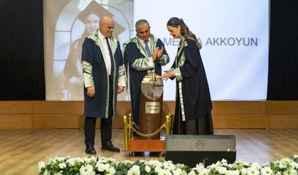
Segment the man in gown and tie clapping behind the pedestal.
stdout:
<svg viewBox="0 0 298 175">
<path fill-rule="evenodd" d="M 139 103 L 142 80 L 148 73 L 161 75 L 161 65 L 169 63 L 164 43 L 150 33 L 149 22 L 141 19 L 136 23 L 137 36 L 124 43 L 124 63 L 129 71 L 129 88 L 132 116 L 139 125 Z"/>
</svg>

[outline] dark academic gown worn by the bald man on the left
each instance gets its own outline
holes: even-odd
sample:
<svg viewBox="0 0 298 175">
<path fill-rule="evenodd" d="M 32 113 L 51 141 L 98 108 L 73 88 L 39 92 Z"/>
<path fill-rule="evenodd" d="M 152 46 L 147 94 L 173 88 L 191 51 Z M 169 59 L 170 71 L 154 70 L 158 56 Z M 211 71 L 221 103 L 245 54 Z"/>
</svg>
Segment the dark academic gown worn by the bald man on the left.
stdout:
<svg viewBox="0 0 298 175">
<path fill-rule="evenodd" d="M 102 56 L 102 51 L 96 43 L 97 34 L 92 35 L 92 38 L 88 37 L 83 43 L 82 51 L 82 61 L 85 61 L 91 66 L 92 69 L 92 80 L 95 86 L 95 96 L 87 96 L 87 88 L 84 88 L 85 96 L 85 116 L 87 117 L 101 117 L 108 118 L 109 110 L 109 99 L 112 95 L 112 107 L 113 114 L 116 114 L 117 105 L 117 87 L 119 78 L 119 66 L 123 65 L 122 51 L 120 49 L 119 42 L 115 41 L 115 47 L 113 49 L 112 44 L 112 54 L 114 55 L 112 61 L 111 78 L 113 82 L 113 93 L 109 93 L 108 83 L 109 75 L 107 75 L 107 68 L 105 66 L 105 60 Z M 117 43 L 116 43 L 117 42 Z M 112 42 L 111 42 L 112 43 Z M 124 65 L 123 65 L 124 70 Z M 125 74 L 122 74 L 123 76 Z"/>
</svg>

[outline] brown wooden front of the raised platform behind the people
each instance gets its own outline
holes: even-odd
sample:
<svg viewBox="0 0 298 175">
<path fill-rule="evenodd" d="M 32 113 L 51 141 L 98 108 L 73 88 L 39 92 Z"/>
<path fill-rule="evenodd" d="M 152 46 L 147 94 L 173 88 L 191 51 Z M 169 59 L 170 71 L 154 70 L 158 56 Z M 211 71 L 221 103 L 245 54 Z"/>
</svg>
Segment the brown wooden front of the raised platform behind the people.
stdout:
<svg viewBox="0 0 298 175">
<path fill-rule="evenodd" d="M 298 129 L 298 101 L 213 101 L 214 128 Z M 83 128 L 83 102 L 0 101 L 0 129 Z M 174 114 L 175 102 L 163 104 Z M 114 128 L 131 113 L 130 102 L 118 102 Z"/>
</svg>

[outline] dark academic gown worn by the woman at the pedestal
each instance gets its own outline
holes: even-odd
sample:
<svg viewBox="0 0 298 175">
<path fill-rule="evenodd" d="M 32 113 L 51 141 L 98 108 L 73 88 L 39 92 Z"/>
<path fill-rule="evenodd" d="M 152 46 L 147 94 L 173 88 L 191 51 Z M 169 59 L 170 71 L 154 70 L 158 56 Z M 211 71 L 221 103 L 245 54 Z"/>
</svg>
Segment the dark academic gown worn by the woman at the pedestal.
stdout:
<svg viewBox="0 0 298 175">
<path fill-rule="evenodd" d="M 184 42 L 171 68 L 178 68 L 181 73 L 182 80 L 176 78 L 176 97 L 183 109 L 181 117 L 186 121 L 205 117 L 211 112 L 212 104 L 200 50 L 195 41 L 186 38 Z M 181 59 L 185 61 L 181 62 Z"/>
</svg>

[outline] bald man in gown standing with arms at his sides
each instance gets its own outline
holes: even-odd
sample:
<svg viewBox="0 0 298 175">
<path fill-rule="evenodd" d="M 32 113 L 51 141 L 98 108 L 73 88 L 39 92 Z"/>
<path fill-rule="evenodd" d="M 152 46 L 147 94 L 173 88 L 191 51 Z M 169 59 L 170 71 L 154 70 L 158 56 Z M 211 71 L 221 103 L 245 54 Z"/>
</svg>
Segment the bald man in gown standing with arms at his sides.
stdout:
<svg viewBox="0 0 298 175">
<path fill-rule="evenodd" d="M 117 93 L 125 87 L 125 68 L 119 42 L 112 36 L 114 20 L 103 16 L 100 29 L 83 43 L 82 67 L 85 98 L 86 154 L 96 154 L 95 124 L 100 118 L 102 150 L 120 152 L 112 144 L 112 117 L 116 116 Z"/>
</svg>

